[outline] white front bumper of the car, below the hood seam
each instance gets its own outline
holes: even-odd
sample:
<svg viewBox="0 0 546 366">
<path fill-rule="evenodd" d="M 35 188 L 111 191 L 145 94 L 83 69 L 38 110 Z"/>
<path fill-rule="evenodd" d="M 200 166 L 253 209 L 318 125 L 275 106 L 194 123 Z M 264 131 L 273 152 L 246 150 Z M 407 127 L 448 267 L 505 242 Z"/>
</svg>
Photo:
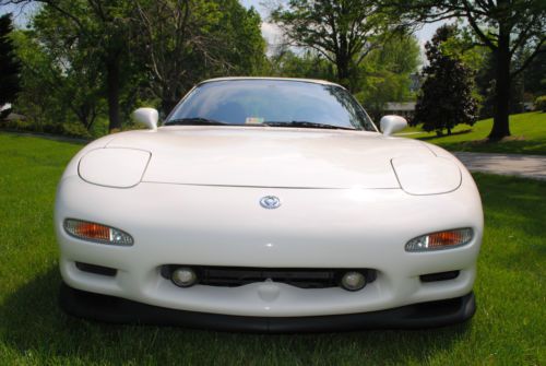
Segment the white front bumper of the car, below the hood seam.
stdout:
<svg viewBox="0 0 546 366">
<path fill-rule="evenodd" d="M 263 210 L 261 197 L 282 199 Z M 447 210 L 446 208 L 449 208 Z M 83 241 L 62 228 L 67 217 L 104 223 L 134 237 L 132 247 Z M 472 227 L 464 247 L 404 251 L 407 240 L 430 232 Z M 242 317 L 321 317 L 372 312 L 456 298 L 472 291 L 483 216 L 473 184 L 437 196 L 401 189 L 282 189 L 141 182 L 131 189 L 64 178 L 57 196 L 60 269 L 72 288 L 150 306 Z M 117 270 L 103 276 L 75 262 Z M 164 264 L 373 269 L 361 291 L 297 288 L 275 283 L 240 287 L 179 288 L 162 278 Z M 423 283 L 420 275 L 460 271 L 456 279 Z"/>
</svg>

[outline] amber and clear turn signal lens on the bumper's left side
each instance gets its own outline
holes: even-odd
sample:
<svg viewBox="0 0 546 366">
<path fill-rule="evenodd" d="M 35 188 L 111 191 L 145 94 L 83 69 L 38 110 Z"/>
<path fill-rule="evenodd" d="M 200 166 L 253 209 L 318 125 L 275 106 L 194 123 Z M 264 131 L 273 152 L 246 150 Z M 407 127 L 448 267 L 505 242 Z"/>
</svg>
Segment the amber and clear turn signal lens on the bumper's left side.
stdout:
<svg viewBox="0 0 546 366">
<path fill-rule="evenodd" d="M 115 227 L 74 219 L 64 220 L 63 226 L 69 235 L 79 239 L 121 246 L 133 244 L 129 234 Z"/>
</svg>

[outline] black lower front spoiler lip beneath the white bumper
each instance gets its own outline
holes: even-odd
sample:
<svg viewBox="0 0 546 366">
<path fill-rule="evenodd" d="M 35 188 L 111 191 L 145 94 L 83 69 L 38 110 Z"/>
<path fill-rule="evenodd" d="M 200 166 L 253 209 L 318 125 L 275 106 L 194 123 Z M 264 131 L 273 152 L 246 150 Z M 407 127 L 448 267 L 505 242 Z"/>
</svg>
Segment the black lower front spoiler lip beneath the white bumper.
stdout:
<svg viewBox="0 0 546 366">
<path fill-rule="evenodd" d="M 423 329 L 463 322 L 476 311 L 474 294 L 388 310 L 313 317 L 242 317 L 176 310 L 62 284 L 60 307 L 69 315 L 111 323 L 179 326 L 256 333 L 351 331 L 360 329 Z"/>
</svg>

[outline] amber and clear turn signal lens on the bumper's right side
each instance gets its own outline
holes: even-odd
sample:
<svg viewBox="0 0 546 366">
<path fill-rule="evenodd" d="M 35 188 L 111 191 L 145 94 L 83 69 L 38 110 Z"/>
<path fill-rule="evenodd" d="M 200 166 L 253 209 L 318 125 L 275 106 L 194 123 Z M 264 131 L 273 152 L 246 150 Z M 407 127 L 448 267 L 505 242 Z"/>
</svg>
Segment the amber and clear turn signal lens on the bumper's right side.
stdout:
<svg viewBox="0 0 546 366">
<path fill-rule="evenodd" d="M 406 251 L 449 249 L 468 244 L 474 237 L 472 228 L 458 228 L 416 237 L 406 244 Z"/>
</svg>

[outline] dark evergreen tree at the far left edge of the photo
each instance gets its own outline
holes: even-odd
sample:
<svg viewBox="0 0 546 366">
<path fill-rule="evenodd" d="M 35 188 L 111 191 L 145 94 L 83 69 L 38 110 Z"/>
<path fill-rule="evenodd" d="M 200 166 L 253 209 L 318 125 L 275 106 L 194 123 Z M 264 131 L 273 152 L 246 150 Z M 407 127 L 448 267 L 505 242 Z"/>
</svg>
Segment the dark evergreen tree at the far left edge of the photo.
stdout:
<svg viewBox="0 0 546 366">
<path fill-rule="evenodd" d="M 11 14 L 0 16 L 0 107 L 13 102 L 20 91 L 21 63 L 10 38 L 12 31 Z"/>
</svg>

